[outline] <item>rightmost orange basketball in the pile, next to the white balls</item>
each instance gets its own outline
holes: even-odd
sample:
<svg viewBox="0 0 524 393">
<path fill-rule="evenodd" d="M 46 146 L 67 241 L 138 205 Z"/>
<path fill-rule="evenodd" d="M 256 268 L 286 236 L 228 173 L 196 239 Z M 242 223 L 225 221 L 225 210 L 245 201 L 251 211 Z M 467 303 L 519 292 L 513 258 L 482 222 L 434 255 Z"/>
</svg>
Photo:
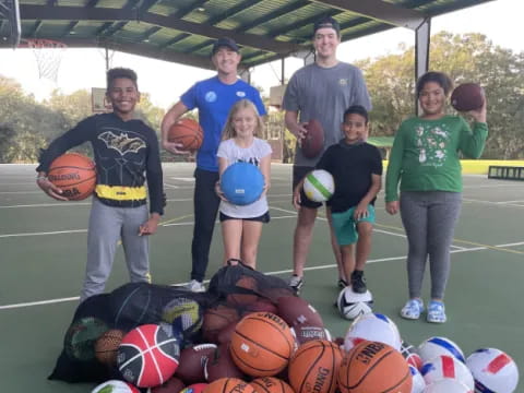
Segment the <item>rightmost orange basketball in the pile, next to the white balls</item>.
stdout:
<svg viewBox="0 0 524 393">
<path fill-rule="evenodd" d="M 341 393 L 412 392 L 412 374 L 398 350 L 379 342 L 361 342 L 342 359 Z"/>
</svg>

